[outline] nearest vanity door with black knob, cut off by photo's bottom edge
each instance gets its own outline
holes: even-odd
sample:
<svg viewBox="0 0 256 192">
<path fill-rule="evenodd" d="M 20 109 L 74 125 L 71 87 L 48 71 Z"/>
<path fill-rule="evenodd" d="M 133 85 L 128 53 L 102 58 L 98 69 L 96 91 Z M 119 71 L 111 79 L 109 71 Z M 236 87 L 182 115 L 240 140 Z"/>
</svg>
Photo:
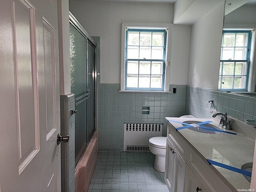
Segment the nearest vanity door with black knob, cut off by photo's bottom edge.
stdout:
<svg viewBox="0 0 256 192">
<path fill-rule="evenodd" d="M 206 192 L 190 168 L 186 166 L 186 179 L 184 192 Z"/>
</svg>

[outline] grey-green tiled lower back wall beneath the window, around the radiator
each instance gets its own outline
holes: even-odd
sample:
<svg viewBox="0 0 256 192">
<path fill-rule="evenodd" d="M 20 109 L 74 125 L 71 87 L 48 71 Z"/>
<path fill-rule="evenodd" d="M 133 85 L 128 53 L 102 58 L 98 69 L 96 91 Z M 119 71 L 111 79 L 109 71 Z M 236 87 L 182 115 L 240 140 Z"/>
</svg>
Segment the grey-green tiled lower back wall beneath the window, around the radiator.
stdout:
<svg viewBox="0 0 256 192">
<path fill-rule="evenodd" d="M 170 86 L 173 93 L 119 92 L 120 84 L 98 84 L 98 151 L 123 150 L 124 123 L 161 123 L 165 117 L 185 114 L 186 86 Z M 142 114 L 142 106 L 150 106 L 150 114 Z"/>
</svg>

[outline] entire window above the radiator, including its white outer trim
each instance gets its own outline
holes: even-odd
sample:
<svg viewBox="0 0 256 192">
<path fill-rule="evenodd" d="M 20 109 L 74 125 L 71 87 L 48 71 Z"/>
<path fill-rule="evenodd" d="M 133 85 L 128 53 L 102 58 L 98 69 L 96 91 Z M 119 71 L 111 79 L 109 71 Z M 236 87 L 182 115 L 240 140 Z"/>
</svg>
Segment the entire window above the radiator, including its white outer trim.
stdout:
<svg viewBox="0 0 256 192">
<path fill-rule="evenodd" d="M 169 92 L 171 27 L 122 23 L 121 92 Z"/>
</svg>

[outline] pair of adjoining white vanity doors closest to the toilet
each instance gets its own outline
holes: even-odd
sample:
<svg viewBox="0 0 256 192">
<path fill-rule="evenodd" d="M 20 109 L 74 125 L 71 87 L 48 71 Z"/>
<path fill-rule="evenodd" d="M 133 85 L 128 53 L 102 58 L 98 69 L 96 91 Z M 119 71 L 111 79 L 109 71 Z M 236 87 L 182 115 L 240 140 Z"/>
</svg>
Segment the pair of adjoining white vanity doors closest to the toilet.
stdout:
<svg viewBox="0 0 256 192">
<path fill-rule="evenodd" d="M 170 192 L 184 191 L 186 163 L 167 138 L 165 180 Z"/>
</svg>

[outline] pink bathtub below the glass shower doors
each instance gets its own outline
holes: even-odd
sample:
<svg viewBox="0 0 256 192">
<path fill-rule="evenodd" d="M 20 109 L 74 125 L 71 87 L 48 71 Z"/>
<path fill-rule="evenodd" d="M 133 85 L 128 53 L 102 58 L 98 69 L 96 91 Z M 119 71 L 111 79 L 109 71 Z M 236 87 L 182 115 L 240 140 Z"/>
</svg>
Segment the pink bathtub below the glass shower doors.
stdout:
<svg viewBox="0 0 256 192">
<path fill-rule="evenodd" d="M 75 191 L 87 192 L 97 160 L 98 131 L 96 130 L 75 169 Z"/>
</svg>

